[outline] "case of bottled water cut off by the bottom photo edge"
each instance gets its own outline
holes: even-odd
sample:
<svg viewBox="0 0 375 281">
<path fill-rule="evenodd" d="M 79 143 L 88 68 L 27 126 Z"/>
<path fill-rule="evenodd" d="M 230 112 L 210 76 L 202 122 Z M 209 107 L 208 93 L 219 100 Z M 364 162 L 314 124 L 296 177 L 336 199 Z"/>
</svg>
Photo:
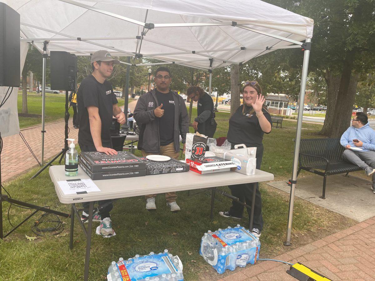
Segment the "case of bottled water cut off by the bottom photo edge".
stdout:
<svg viewBox="0 0 375 281">
<path fill-rule="evenodd" d="M 178 256 L 164 250 L 163 253 L 151 252 L 145 256 L 113 261 L 108 268 L 108 281 L 183 281 L 182 263 Z"/>
</svg>

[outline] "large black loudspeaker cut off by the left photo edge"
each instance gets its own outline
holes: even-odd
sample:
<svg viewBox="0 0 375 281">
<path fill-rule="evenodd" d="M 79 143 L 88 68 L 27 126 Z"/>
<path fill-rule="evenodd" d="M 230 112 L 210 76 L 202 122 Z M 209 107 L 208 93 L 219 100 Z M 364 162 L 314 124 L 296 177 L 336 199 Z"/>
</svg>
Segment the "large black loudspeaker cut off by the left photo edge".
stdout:
<svg viewBox="0 0 375 281">
<path fill-rule="evenodd" d="M 20 14 L 0 3 L 0 86 L 20 87 Z"/>
</svg>

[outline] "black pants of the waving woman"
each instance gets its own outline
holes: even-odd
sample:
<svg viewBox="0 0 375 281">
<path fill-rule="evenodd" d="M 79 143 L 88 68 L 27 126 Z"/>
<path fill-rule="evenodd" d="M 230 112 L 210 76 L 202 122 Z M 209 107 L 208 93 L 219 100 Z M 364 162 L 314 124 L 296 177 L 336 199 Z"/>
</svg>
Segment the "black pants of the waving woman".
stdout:
<svg viewBox="0 0 375 281">
<path fill-rule="evenodd" d="M 257 169 L 260 169 L 262 164 L 263 158 L 263 147 L 257 148 Z M 252 199 L 253 199 L 253 190 L 254 186 L 256 186 L 255 191 L 255 205 L 254 205 L 254 220 L 253 225 L 250 226 L 251 228 L 257 228 L 259 230 L 263 229 L 263 217 L 262 217 L 262 198 L 260 196 L 259 191 L 259 182 L 248 183 L 248 184 L 235 184 L 229 185 L 228 187 L 231 190 L 233 196 L 236 196 L 240 199 L 241 202 L 246 203 L 247 205 L 251 206 Z M 237 218 L 242 218 L 243 214 L 243 206 L 242 204 L 238 203 L 237 201 L 232 201 L 232 206 L 229 209 L 231 215 Z M 251 215 L 251 208 L 246 208 L 249 214 L 249 220 Z"/>
</svg>

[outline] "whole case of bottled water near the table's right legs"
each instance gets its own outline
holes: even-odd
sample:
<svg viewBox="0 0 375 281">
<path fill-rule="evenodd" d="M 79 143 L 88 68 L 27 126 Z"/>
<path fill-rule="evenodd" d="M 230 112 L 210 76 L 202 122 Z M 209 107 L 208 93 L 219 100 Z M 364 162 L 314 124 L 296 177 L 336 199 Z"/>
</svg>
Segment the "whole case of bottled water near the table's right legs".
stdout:
<svg viewBox="0 0 375 281">
<path fill-rule="evenodd" d="M 233 271 L 236 266 L 254 265 L 259 257 L 260 241 L 249 230 L 237 224 L 237 227 L 208 230 L 201 241 L 199 254 L 204 260 L 222 274 L 226 269 Z"/>
</svg>

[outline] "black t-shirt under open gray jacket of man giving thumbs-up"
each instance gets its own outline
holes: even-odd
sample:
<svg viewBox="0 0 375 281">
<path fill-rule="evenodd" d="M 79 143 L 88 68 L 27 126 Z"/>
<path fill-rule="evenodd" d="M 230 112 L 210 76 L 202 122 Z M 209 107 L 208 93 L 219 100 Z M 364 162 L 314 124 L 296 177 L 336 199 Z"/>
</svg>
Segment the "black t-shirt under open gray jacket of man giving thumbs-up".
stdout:
<svg viewBox="0 0 375 281">
<path fill-rule="evenodd" d="M 171 91 L 167 94 L 155 91 L 159 106 L 163 104 L 164 115 L 159 118 L 160 146 L 168 145 L 174 138 L 174 98 Z"/>
</svg>

